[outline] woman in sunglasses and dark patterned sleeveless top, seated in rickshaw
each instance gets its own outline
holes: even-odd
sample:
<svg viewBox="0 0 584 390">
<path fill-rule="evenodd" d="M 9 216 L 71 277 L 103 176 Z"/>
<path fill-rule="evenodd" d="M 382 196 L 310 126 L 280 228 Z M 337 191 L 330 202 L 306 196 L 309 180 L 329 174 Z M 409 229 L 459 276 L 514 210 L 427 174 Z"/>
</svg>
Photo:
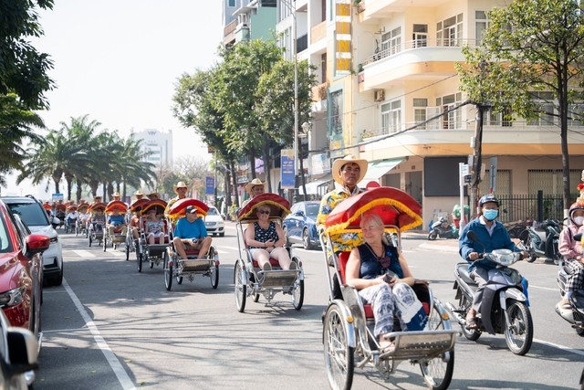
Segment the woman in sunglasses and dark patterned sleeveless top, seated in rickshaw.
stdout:
<svg viewBox="0 0 584 390">
<path fill-rule="evenodd" d="M 284 230 L 276 222 L 270 221 L 270 207 L 257 206 L 255 209 L 257 221 L 245 229 L 245 243 L 250 254 L 260 269 L 270 270 L 270 258 L 274 258 L 282 269 L 297 269 L 284 248 L 286 236 Z"/>
</svg>

